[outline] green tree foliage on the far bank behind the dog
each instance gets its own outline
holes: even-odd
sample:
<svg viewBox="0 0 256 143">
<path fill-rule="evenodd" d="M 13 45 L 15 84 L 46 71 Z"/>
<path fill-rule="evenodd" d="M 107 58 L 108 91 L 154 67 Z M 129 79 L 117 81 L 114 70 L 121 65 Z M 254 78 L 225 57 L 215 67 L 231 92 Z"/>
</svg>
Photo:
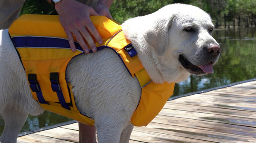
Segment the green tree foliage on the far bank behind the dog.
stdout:
<svg viewBox="0 0 256 143">
<path fill-rule="evenodd" d="M 241 14 L 256 16 L 256 0 L 114 0 L 110 7 L 113 18 L 122 23 L 128 18 L 142 16 L 157 11 L 167 4 L 192 4 L 209 13 L 213 20 L 233 21 Z M 26 0 L 21 14 L 57 14 L 46 0 Z M 221 22 L 222 22 L 221 21 Z"/>
</svg>

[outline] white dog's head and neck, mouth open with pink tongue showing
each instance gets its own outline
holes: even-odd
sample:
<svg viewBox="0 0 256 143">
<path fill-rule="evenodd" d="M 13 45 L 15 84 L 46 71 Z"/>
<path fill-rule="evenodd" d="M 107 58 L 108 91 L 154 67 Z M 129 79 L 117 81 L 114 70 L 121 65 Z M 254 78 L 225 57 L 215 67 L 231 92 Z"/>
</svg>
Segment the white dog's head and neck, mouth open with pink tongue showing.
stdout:
<svg viewBox="0 0 256 143">
<path fill-rule="evenodd" d="M 198 7 L 167 5 L 122 26 L 154 82 L 180 82 L 190 74 L 211 73 L 220 55 L 211 36 L 211 18 Z"/>
</svg>

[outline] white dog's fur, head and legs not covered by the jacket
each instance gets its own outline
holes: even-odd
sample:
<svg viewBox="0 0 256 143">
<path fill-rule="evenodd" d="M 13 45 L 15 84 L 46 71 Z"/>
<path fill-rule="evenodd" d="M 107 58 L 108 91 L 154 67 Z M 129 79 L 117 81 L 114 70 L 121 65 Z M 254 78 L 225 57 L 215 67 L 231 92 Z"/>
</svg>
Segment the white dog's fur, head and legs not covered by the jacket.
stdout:
<svg viewBox="0 0 256 143">
<path fill-rule="evenodd" d="M 211 36 L 211 18 L 198 7 L 168 5 L 153 14 L 131 18 L 122 27 L 156 83 L 181 82 L 190 74 L 211 73 L 220 54 Z M 5 122 L 0 141 L 15 143 L 28 114 L 37 115 L 43 109 L 31 96 L 8 29 L 0 32 L 0 114 Z M 130 119 L 141 87 L 117 54 L 104 49 L 73 58 L 67 80 L 75 87 L 79 111 L 94 118 L 99 143 L 129 142 Z"/>
</svg>

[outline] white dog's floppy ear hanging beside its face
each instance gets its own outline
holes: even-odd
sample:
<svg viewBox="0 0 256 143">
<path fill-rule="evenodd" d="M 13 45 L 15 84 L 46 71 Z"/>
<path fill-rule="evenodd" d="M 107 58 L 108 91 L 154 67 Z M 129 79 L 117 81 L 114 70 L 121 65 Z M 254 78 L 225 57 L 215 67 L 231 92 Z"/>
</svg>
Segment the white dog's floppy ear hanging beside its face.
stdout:
<svg viewBox="0 0 256 143">
<path fill-rule="evenodd" d="M 167 48 L 168 33 L 171 27 L 173 18 L 158 18 L 153 23 L 149 24 L 151 27 L 144 32 L 146 42 L 154 48 L 159 56 L 162 56 Z"/>
</svg>

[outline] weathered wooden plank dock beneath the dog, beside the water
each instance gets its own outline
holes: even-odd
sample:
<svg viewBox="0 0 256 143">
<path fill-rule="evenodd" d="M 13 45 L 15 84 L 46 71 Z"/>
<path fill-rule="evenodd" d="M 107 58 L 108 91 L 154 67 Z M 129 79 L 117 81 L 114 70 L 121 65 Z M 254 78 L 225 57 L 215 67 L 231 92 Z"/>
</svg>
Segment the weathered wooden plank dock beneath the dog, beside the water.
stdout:
<svg viewBox="0 0 256 143">
<path fill-rule="evenodd" d="M 130 143 L 256 143 L 255 80 L 168 101 L 147 127 L 134 128 Z M 18 138 L 18 143 L 78 142 L 78 123 Z"/>
</svg>

